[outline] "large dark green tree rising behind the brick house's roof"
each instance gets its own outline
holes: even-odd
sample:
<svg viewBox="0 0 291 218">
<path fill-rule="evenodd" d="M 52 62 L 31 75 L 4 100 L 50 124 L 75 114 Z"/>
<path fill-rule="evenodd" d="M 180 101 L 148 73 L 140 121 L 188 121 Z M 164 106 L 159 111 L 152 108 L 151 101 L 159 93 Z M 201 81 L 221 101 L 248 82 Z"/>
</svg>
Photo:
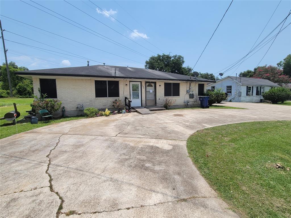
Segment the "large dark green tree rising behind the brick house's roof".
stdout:
<svg viewBox="0 0 291 218">
<path fill-rule="evenodd" d="M 184 57 L 181 55 L 168 55 L 168 54 L 158 54 L 156 56 L 151 56 L 145 61 L 145 68 L 148 69 L 159 69 L 159 71 L 189 75 L 192 72 L 192 68 L 187 66 L 183 67 L 185 61 Z"/>
</svg>

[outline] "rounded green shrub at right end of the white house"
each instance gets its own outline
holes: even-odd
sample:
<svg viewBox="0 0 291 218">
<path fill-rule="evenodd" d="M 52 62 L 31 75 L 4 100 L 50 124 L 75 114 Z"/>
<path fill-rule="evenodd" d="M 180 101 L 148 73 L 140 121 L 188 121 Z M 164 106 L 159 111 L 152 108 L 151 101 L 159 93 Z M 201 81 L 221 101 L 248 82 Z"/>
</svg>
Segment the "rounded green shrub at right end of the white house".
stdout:
<svg viewBox="0 0 291 218">
<path fill-rule="evenodd" d="M 272 88 L 263 94 L 265 100 L 269 100 L 272 104 L 284 102 L 291 98 L 291 91 L 284 87 Z"/>
</svg>

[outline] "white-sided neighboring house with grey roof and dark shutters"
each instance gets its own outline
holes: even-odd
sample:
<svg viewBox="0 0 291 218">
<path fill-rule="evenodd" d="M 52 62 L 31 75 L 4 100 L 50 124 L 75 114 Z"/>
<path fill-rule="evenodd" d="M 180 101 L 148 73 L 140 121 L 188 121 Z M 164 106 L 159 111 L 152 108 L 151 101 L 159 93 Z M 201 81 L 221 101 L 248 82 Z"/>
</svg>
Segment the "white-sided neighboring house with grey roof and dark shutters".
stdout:
<svg viewBox="0 0 291 218">
<path fill-rule="evenodd" d="M 267 79 L 226 76 L 216 83 L 208 83 L 207 89 L 222 88 L 228 94 L 226 101 L 262 102 L 262 94 L 272 87 L 279 87 Z"/>
</svg>

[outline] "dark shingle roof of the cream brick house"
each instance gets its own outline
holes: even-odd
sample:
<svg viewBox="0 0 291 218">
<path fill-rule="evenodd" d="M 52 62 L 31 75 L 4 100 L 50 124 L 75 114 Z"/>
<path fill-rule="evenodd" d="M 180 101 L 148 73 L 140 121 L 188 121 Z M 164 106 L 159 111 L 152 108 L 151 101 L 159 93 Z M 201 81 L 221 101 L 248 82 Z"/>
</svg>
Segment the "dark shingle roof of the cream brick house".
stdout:
<svg viewBox="0 0 291 218">
<path fill-rule="evenodd" d="M 112 74 L 112 68 L 119 68 L 119 75 L 116 76 L 116 78 L 215 82 L 213 80 L 207 80 L 198 77 L 190 78 L 190 76 L 173 74 L 151 69 L 136 67 L 104 66 L 104 65 L 26 70 L 17 71 L 15 72 L 15 74 L 19 76 L 38 75 L 38 76 L 83 76 L 83 77 L 114 78 L 114 73 Z"/>
</svg>

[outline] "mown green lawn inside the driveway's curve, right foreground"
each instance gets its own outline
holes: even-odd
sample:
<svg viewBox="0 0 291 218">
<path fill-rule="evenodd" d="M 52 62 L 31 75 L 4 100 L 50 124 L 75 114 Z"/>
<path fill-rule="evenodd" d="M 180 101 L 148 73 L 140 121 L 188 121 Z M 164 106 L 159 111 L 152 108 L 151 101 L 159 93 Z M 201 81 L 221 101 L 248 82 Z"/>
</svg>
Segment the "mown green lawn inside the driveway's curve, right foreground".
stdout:
<svg viewBox="0 0 291 218">
<path fill-rule="evenodd" d="M 291 217 L 290 148 L 291 121 L 206 128 L 187 140 L 193 163 L 240 217 Z"/>
</svg>

